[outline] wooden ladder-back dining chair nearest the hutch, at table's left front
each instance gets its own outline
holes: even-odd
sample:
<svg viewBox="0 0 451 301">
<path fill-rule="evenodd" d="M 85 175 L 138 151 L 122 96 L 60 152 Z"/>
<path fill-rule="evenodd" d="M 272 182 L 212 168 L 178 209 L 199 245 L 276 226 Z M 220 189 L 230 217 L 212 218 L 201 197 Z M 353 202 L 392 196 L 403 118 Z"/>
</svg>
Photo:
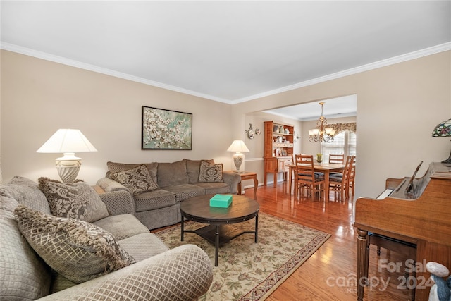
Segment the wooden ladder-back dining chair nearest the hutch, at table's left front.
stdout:
<svg viewBox="0 0 451 301">
<path fill-rule="evenodd" d="M 318 193 L 318 199 L 321 197 L 322 191 L 323 199 L 326 200 L 324 176 L 315 174 L 313 155 L 296 155 L 295 162 L 295 198 L 297 198 L 298 193 L 304 197 L 304 192 L 307 190 L 311 197 Z"/>
</svg>

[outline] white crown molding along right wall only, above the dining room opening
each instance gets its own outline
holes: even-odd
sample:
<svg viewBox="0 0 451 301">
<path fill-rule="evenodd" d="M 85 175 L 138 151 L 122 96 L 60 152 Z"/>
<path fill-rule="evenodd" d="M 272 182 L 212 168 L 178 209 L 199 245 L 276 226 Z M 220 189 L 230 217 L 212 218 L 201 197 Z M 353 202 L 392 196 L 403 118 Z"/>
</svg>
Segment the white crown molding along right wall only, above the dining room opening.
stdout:
<svg viewBox="0 0 451 301">
<path fill-rule="evenodd" d="M 432 54 L 438 54 L 439 52 L 443 52 L 443 51 L 448 51 L 451 50 L 451 42 L 447 42 L 444 44 L 440 44 L 440 45 L 436 45 L 433 47 L 428 47 L 426 49 L 421 49 L 418 51 L 413 51 L 413 52 L 409 52 L 408 54 L 402 54 L 400 56 L 394 56 L 393 58 L 390 59 L 384 59 L 382 61 L 376 61 L 374 63 L 368 63 L 366 65 L 362 65 L 356 68 L 351 68 L 351 69 L 347 69 L 347 70 L 343 70 L 337 73 L 332 73 L 329 75 L 325 75 L 325 76 L 321 76 L 320 78 L 314 78 L 312 80 L 306 80 L 304 82 L 299 82 L 297 84 L 294 85 L 289 85 L 286 87 L 281 87 L 275 90 L 271 90 L 271 91 L 267 91 L 267 92 L 263 92 L 263 93 L 259 93 L 259 94 L 255 94 L 249 97 L 244 97 L 241 99 L 235 99 L 232 104 L 239 104 L 240 102 L 249 102 L 249 100 L 253 100 L 253 99 L 258 99 L 261 97 L 267 97 L 267 96 L 271 96 L 274 94 L 279 94 L 282 92 L 287 92 L 290 90 L 295 90 L 301 87 L 307 87 L 309 85 L 314 85 L 314 84 L 318 84 L 320 82 L 326 82 L 328 80 L 335 80 L 337 78 L 344 78 L 345 76 L 348 75 L 353 75 L 353 74 L 357 74 L 357 73 L 361 73 L 364 71 L 369 71 L 369 70 L 373 70 L 373 69 L 377 69 L 377 68 L 381 68 L 381 67 L 385 67 L 385 66 L 390 66 L 393 65 L 395 63 L 402 63 L 404 61 L 410 61 L 412 59 L 419 59 L 423 56 L 430 56 Z"/>
</svg>

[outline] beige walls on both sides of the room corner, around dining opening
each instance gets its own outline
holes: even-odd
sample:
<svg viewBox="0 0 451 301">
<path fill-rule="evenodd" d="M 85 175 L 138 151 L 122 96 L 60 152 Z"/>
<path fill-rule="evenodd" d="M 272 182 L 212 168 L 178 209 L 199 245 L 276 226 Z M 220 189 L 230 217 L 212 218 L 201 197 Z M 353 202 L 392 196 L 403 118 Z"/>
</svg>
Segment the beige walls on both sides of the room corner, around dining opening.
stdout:
<svg viewBox="0 0 451 301">
<path fill-rule="evenodd" d="M 252 149 L 245 168 L 259 171 L 263 136 L 252 141 L 245 136 L 249 123 L 263 130 L 266 116 L 256 112 L 357 94 L 357 196 L 376 196 L 384 189 L 385 178 L 408 176 L 421 160 L 426 166 L 420 173 L 424 172 L 431 161 L 449 156 L 450 141 L 431 137 L 431 131 L 451 116 L 450 56 L 451 51 L 445 51 L 228 105 L 1 51 L 3 178 L 7 181 L 16 174 L 58 178 L 53 166 L 58 155 L 35 152 L 58 128 L 80 128 L 99 150 L 79 154 L 80 178 L 92 184 L 104 175 L 106 161 L 213 157 L 230 168 L 226 149 L 235 139 L 245 140 Z M 142 105 L 193 113 L 192 151 L 142 151 Z M 282 121 L 277 116 L 271 119 Z M 302 148 L 305 137 L 302 134 Z"/>
</svg>

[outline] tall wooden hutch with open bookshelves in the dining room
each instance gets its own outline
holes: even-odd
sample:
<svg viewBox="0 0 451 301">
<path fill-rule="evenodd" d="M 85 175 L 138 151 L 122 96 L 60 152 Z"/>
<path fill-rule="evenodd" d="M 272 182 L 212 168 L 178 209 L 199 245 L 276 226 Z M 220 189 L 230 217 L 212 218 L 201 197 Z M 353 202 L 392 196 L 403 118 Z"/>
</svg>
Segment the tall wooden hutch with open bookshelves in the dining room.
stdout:
<svg viewBox="0 0 451 301">
<path fill-rule="evenodd" d="M 273 173 L 274 186 L 277 185 L 278 173 L 288 176 L 289 164 L 292 164 L 294 147 L 294 125 L 265 121 L 264 141 L 264 185 L 268 173 Z"/>
</svg>

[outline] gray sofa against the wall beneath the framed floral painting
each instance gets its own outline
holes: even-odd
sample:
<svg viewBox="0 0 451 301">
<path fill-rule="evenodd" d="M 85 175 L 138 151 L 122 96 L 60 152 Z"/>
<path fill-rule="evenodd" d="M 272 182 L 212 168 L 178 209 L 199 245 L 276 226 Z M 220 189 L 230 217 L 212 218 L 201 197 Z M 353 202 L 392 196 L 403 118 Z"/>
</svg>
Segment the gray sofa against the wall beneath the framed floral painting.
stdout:
<svg viewBox="0 0 451 301">
<path fill-rule="evenodd" d="M 124 171 L 136 171 L 136 168 L 143 165 L 146 166 L 144 171 L 149 171 L 150 178 L 144 182 L 152 182 L 151 185 L 147 185 L 149 190 L 145 190 L 146 188 L 133 190 L 128 181 L 136 177 L 130 176 L 130 173 L 122 179 L 122 183 L 118 182 L 118 177 L 123 176 Z M 130 192 L 135 199 L 135 216 L 149 229 L 179 223 L 180 202 L 183 200 L 205 194 L 235 194 L 237 184 L 241 180 L 239 174 L 223 171 L 222 164 L 215 164 L 211 159 L 183 159 L 173 163 L 148 164 L 108 162 L 107 166 L 109 171 L 106 177 L 98 180 L 97 185 L 106 192 L 118 190 Z M 140 174 L 142 176 L 142 173 Z M 126 185 L 128 187 L 125 187 Z"/>
</svg>

